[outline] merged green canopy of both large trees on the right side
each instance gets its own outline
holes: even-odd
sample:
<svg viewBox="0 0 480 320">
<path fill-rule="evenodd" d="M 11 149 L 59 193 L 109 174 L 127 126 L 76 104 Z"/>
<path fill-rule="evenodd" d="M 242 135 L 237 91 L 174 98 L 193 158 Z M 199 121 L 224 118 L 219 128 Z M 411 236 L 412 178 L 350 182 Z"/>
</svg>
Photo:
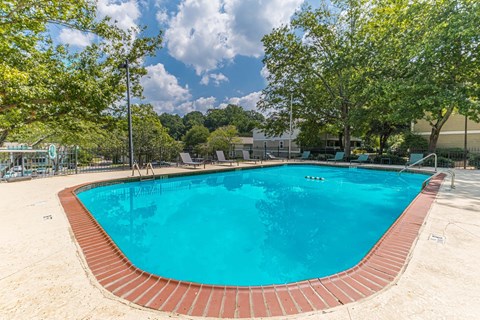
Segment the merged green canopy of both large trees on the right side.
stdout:
<svg viewBox="0 0 480 320">
<path fill-rule="evenodd" d="M 266 130 L 388 136 L 425 118 L 429 149 L 459 112 L 478 120 L 480 4 L 474 0 L 323 1 L 263 38 Z M 305 136 L 305 135 L 304 135 Z"/>
</svg>

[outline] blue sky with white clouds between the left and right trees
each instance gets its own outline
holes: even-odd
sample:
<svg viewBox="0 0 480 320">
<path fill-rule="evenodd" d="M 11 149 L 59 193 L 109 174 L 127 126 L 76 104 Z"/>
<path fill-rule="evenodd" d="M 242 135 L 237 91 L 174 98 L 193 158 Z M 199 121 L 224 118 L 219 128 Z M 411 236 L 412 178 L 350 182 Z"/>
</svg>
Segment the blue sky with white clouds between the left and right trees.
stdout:
<svg viewBox="0 0 480 320">
<path fill-rule="evenodd" d="M 146 59 L 142 102 L 183 115 L 238 104 L 254 110 L 266 85 L 261 38 L 313 0 L 98 0 L 100 17 L 119 27 L 163 30 L 163 47 Z M 56 30 L 57 41 L 81 49 L 93 36 Z"/>
</svg>

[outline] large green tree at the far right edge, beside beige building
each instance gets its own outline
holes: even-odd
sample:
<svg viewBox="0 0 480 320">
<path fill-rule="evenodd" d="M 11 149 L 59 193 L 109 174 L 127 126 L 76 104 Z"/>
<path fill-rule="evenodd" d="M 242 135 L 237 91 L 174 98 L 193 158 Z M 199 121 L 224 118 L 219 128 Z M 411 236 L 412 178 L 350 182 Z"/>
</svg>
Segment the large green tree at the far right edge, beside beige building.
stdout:
<svg viewBox="0 0 480 320">
<path fill-rule="evenodd" d="M 368 27 L 379 62 L 372 77 L 399 117 L 426 119 L 428 149 L 450 115 L 478 120 L 480 3 L 474 0 L 374 1 Z"/>
</svg>

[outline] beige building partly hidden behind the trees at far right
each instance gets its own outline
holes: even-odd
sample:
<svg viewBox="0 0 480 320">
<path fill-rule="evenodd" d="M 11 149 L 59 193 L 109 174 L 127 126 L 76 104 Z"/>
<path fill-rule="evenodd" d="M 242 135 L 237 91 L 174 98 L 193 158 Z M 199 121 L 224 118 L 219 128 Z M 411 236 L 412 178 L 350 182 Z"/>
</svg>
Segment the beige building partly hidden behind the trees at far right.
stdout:
<svg viewBox="0 0 480 320">
<path fill-rule="evenodd" d="M 425 120 L 412 125 L 412 131 L 430 138 L 431 127 Z M 463 148 L 465 139 L 465 116 L 453 114 L 443 125 L 438 138 L 437 148 Z M 480 123 L 467 120 L 467 148 L 480 149 Z"/>
</svg>

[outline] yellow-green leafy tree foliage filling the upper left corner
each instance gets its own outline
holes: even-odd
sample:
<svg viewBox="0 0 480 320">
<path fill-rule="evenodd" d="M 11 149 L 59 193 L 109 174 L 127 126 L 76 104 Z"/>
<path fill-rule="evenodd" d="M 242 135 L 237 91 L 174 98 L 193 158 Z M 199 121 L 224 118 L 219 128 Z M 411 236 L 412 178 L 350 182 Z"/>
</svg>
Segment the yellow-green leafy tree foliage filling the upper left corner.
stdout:
<svg viewBox="0 0 480 320">
<path fill-rule="evenodd" d="M 98 41 L 81 52 L 55 46 L 48 26 L 91 32 Z M 3 1 L 0 3 L 0 144 L 9 134 L 41 122 L 46 132 L 88 135 L 105 111 L 125 96 L 125 71 L 131 64 L 132 92 L 141 95 L 145 56 L 160 35 L 122 31 L 96 19 L 95 2 Z"/>
</svg>

